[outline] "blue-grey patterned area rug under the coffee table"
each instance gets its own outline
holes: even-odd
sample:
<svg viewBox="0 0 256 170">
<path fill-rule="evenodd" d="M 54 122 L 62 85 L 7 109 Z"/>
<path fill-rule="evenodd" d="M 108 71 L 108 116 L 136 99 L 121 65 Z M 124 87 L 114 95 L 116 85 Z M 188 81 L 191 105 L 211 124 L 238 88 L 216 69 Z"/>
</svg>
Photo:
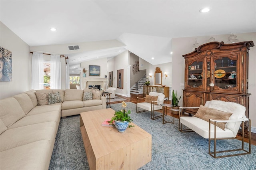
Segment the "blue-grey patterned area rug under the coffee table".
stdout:
<svg viewBox="0 0 256 170">
<path fill-rule="evenodd" d="M 139 127 L 152 135 L 152 161 L 140 170 L 255 170 L 256 146 L 252 154 L 227 158 L 212 158 L 208 154 L 208 139 L 195 132 L 178 131 L 178 119 L 174 124 L 162 124 L 162 119 L 150 119 L 150 112 L 136 113 L 136 104 L 127 102 L 131 118 Z M 120 110 L 121 104 L 111 108 Z M 167 121 L 172 117 L 167 116 Z M 61 119 L 50 162 L 50 170 L 89 170 L 80 132 L 80 116 Z M 240 140 L 217 142 L 220 149 L 239 148 Z M 248 149 L 248 143 L 245 143 Z"/>
</svg>

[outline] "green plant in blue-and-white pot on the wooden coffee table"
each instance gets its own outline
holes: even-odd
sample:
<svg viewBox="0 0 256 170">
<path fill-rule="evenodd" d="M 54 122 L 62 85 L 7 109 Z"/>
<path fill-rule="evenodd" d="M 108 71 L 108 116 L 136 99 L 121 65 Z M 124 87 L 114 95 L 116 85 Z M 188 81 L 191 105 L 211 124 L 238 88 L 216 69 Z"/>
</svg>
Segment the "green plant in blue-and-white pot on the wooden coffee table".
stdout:
<svg viewBox="0 0 256 170">
<path fill-rule="evenodd" d="M 131 113 L 130 110 L 126 112 L 126 103 L 122 102 L 122 109 L 115 111 L 114 116 L 108 121 L 109 125 L 115 126 L 118 132 L 124 132 L 127 127 L 134 127 L 133 125 L 128 125 L 131 123 L 132 119 L 128 114 Z"/>
</svg>

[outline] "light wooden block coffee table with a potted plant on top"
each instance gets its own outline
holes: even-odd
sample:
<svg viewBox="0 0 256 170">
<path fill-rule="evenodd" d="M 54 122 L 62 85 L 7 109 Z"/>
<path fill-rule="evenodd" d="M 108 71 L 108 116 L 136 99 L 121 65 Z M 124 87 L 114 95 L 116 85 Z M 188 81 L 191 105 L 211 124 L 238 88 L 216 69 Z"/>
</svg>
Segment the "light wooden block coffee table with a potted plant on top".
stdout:
<svg viewBox="0 0 256 170">
<path fill-rule="evenodd" d="M 80 130 L 90 170 L 135 170 L 151 161 L 152 136 L 142 128 L 127 128 L 118 132 L 102 126 L 111 119 L 113 109 L 80 113 Z"/>
</svg>

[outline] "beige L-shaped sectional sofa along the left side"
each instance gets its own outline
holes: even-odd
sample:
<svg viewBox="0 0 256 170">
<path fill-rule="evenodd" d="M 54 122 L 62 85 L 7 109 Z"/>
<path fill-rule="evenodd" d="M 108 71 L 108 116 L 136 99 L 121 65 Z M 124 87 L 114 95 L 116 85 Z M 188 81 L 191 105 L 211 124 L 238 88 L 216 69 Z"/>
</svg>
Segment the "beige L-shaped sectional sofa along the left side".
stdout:
<svg viewBox="0 0 256 170">
<path fill-rule="evenodd" d="M 0 169 L 47 170 L 60 117 L 106 108 L 105 97 L 83 101 L 90 90 L 30 90 L 0 100 Z M 56 92 L 61 102 L 38 105 L 36 93 Z"/>
</svg>

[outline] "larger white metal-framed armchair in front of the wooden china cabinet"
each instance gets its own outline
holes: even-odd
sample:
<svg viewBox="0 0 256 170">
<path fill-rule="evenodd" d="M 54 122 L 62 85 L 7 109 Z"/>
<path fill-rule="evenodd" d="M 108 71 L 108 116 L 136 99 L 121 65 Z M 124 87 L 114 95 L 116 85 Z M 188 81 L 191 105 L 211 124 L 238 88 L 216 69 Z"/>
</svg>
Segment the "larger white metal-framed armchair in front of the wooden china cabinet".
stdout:
<svg viewBox="0 0 256 170">
<path fill-rule="evenodd" d="M 193 117 L 183 116 L 183 109 L 196 109 L 200 108 L 200 114 L 202 117 L 194 115 Z M 202 112 L 203 111 L 203 112 Z M 246 108 L 238 103 L 225 102 L 225 101 L 206 101 L 204 106 L 200 107 L 180 107 L 179 114 L 179 130 L 180 132 L 191 132 L 194 131 L 203 138 L 209 139 L 209 150 L 208 153 L 214 158 L 222 158 L 227 156 L 237 156 L 243 154 L 250 154 L 251 152 L 251 120 L 245 116 Z M 196 114 L 198 114 L 198 112 Z M 203 113 L 203 114 L 202 114 Z M 204 114 L 205 113 L 205 114 Z M 221 119 L 224 115 L 232 113 L 228 120 Z M 209 119 L 209 117 L 217 117 L 217 120 Z M 219 118 L 219 119 L 218 119 Z M 249 131 L 249 149 L 244 149 L 244 122 L 248 121 Z M 220 127 L 220 123 L 224 127 Z M 226 124 L 225 124 L 226 123 Z M 236 137 L 240 125 L 242 123 L 242 137 Z M 186 129 L 182 127 L 185 125 Z M 224 139 L 241 139 L 241 149 L 236 150 L 222 150 L 216 151 L 216 140 Z M 211 140 L 214 140 L 214 151 L 211 152 Z M 239 153 L 234 153 L 239 151 Z M 230 154 L 224 154 L 218 156 L 217 154 L 223 152 L 230 152 Z M 231 154 L 233 152 L 233 154 Z"/>
</svg>

